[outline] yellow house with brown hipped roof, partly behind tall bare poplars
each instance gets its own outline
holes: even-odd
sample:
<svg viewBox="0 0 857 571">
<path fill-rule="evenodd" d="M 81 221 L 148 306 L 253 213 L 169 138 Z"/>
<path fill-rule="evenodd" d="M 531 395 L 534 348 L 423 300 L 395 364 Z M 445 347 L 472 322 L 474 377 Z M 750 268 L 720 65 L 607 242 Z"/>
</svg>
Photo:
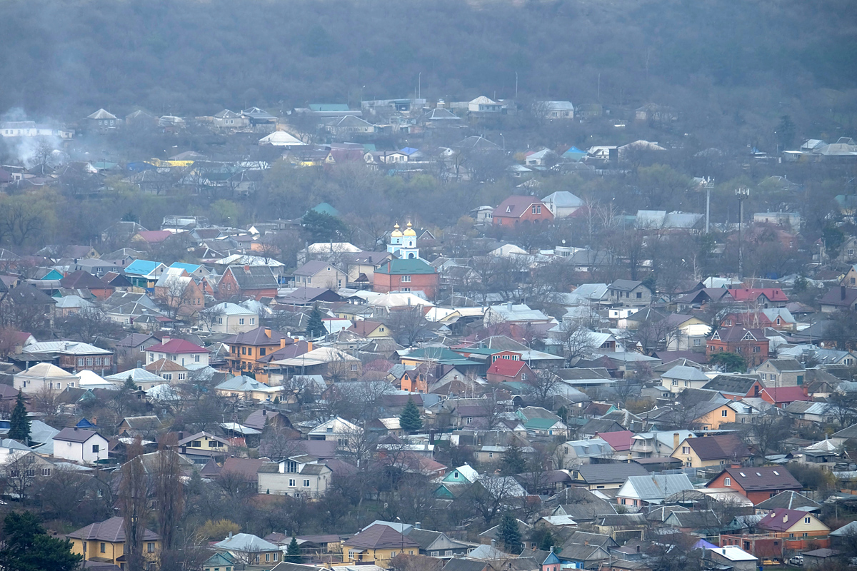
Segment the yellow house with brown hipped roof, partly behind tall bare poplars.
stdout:
<svg viewBox="0 0 857 571">
<path fill-rule="evenodd" d="M 91 523 L 66 538 L 71 541 L 71 552 L 83 556 L 84 561 L 113 563 L 119 568 L 125 565 L 125 522 L 121 517 Z M 158 560 L 161 543 L 160 536 L 146 530 L 143 533 L 143 557 L 148 562 Z"/>
</svg>

